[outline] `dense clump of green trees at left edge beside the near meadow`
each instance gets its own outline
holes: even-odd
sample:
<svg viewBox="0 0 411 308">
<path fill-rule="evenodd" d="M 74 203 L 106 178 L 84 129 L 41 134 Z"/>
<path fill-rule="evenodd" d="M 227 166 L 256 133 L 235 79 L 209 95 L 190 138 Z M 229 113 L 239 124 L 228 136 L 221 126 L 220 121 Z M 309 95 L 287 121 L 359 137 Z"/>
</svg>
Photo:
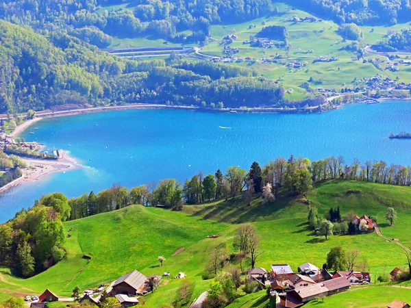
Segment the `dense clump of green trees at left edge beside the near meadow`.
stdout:
<svg viewBox="0 0 411 308">
<path fill-rule="evenodd" d="M 62 222 L 70 207 L 63 194 L 43 196 L 29 211 L 0 226 L 0 265 L 22 277 L 46 270 L 64 257 Z"/>
</svg>

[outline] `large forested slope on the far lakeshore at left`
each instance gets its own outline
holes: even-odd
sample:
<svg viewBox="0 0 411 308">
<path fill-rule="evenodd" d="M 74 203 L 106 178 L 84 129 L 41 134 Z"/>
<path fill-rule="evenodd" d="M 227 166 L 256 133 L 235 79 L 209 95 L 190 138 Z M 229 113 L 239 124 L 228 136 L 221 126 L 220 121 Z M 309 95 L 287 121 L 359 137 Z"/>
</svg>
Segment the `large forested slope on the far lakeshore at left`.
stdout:
<svg viewBox="0 0 411 308">
<path fill-rule="evenodd" d="M 164 103 L 201 107 L 284 105 L 284 89 L 247 69 L 173 60 L 136 62 L 55 31 L 0 21 L 0 112 L 65 103 Z"/>
</svg>

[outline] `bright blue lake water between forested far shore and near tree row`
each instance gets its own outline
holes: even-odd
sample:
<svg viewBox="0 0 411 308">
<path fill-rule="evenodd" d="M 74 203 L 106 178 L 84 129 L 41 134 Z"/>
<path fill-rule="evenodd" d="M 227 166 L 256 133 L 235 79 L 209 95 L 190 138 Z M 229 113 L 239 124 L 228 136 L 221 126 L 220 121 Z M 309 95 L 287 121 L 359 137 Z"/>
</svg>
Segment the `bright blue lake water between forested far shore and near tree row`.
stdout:
<svg viewBox="0 0 411 308">
<path fill-rule="evenodd" d="M 27 129 L 21 136 L 47 149 L 68 150 L 83 166 L 0 196 L 0 222 L 42 194 L 63 192 L 71 198 L 113 183 L 132 188 L 167 177 L 184 182 L 199 171 L 248 169 L 255 160 L 264 165 L 291 154 L 411 164 L 411 140 L 388 139 L 392 131 L 411 131 L 411 102 L 406 101 L 347 105 L 324 114 L 128 110 L 48 118 L 34 127 L 34 135 Z"/>
</svg>

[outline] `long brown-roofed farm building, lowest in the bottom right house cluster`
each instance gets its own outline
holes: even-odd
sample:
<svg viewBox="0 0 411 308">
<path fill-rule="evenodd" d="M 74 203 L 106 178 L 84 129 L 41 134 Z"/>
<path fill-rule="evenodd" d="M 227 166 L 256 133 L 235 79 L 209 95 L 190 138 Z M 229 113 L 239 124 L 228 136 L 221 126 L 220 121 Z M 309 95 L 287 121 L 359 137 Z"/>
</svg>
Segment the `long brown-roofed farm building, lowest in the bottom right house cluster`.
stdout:
<svg viewBox="0 0 411 308">
<path fill-rule="evenodd" d="M 331 279 L 322 283 L 314 283 L 286 293 L 281 298 L 281 305 L 286 308 L 301 307 L 318 296 L 328 296 L 349 290 L 350 283 L 345 277 Z"/>
</svg>

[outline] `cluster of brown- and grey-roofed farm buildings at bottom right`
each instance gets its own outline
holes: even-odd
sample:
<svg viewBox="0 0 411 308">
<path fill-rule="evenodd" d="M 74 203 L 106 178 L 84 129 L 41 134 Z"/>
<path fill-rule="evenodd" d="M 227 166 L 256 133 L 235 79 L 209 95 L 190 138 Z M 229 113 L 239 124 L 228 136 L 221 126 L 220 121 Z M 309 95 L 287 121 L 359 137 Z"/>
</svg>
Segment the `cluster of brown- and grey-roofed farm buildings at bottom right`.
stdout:
<svg viewBox="0 0 411 308">
<path fill-rule="evenodd" d="M 299 266 L 297 273 L 288 264 L 273 264 L 270 272 L 264 268 L 251 268 L 248 279 L 271 286 L 272 294 L 277 294 L 280 305 L 286 308 L 301 307 L 321 296 L 347 291 L 351 285 L 371 283 L 369 272 L 351 270 L 331 274 L 310 263 Z"/>
</svg>

